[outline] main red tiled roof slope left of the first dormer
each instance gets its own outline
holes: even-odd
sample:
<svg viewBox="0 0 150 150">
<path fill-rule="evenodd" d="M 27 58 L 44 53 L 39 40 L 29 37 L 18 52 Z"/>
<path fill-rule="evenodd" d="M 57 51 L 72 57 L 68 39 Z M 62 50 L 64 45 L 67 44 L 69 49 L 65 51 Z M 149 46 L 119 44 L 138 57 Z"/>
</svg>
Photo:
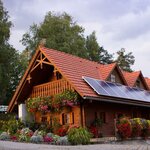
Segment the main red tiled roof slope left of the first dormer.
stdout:
<svg viewBox="0 0 150 150">
<path fill-rule="evenodd" d="M 82 76 L 101 79 L 100 64 L 44 47 L 41 51 L 82 96 L 98 96 Z"/>
</svg>

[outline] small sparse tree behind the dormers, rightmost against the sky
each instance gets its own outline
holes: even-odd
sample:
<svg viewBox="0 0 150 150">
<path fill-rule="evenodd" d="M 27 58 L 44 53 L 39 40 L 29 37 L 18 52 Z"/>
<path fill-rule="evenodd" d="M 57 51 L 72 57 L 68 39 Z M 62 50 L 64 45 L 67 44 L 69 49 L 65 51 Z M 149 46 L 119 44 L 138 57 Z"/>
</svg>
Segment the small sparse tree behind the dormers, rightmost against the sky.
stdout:
<svg viewBox="0 0 150 150">
<path fill-rule="evenodd" d="M 132 52 L 126 54 L 125 49 L 121 48 L 121 50 L 117 52 L 117 55 L 116 62 L 120 68 L 125 71 L 132 72 L 133 70 L 131 69 L 131 66 L 135 62 L 135 57 L 133 56 Z"/>
</svg>

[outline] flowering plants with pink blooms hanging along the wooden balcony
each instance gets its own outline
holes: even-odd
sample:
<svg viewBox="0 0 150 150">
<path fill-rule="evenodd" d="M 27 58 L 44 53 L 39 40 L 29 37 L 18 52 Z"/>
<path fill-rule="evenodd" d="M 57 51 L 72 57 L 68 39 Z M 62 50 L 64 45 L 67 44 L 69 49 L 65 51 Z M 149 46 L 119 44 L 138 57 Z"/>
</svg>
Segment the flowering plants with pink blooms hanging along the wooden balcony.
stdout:
<svg viewBox="0 0 150 150">
<path fill-rule="evenodd" d="M 28 112 L 61 112 L 63 106 L 73 106 L 77 104 L 78 95 L 76 92 L 66 90 L 54 97 L 35 97 L 26 100 Z"/>
</svg>

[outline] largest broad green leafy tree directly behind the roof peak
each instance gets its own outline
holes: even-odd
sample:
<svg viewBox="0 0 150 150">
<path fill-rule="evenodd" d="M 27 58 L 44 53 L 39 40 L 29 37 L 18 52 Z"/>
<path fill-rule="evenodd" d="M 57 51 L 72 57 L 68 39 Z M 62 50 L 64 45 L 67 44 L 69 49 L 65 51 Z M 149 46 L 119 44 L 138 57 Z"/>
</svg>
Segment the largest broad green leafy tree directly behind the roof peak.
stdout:
<svg viewBox="0 0 150 150">
<path fill-rule="evenodd" d="M 79 57 L 87 58 L 84 29 L 73 21 L 67 13 L 48 12 L 44 21 L 38 26 L 32 25 L 22 38 L 22 44 L 34 53 L 43 38 L 49 48 L 64 51 Z"/>
</svg>

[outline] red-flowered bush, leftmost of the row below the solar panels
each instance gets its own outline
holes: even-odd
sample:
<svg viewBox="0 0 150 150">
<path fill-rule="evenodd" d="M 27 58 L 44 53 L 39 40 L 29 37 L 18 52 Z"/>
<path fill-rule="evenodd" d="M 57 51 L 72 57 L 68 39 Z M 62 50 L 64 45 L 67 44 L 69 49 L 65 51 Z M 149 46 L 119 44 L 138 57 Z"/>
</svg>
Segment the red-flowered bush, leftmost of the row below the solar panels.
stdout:
<svg viewBox="0 0 150 150">
<path fill-rule="evenodd" d="M 118 133 L 121 138 L 127 139 L 127 138 L 131 137 L 132 127 L 131 127 L 130 120 L 128 118 L 126 118 L 126 117 L 121 118 L 117 122 L 117 129 L 118 129 Z"/>
</svg>

